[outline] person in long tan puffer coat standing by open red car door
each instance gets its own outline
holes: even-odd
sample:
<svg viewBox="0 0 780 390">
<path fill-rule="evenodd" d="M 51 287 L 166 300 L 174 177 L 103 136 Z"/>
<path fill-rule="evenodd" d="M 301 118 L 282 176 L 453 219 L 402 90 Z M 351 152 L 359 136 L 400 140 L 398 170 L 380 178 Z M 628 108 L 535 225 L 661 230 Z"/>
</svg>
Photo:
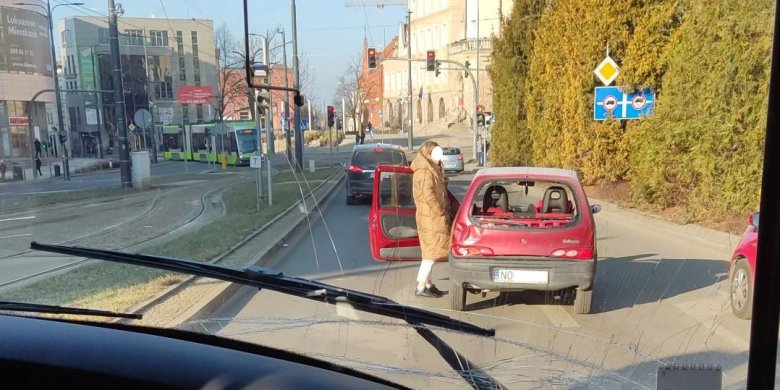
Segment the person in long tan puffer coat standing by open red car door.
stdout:
<svg viewBox="0 0 780 390">
<path fill-rule="evenodd" d="M 427 141 L 411 164 L 412 195 L 417 206 L 415 221 L 420 238 L 422 262 L 417 273 L 415 295 L 439 298 L 444 293 L 431 283 L 433 264 L 447 260 L 450 251 L 450 217 L 447 213 L 447 182 L 440 161 L 442 148 Z"/>
</svg>

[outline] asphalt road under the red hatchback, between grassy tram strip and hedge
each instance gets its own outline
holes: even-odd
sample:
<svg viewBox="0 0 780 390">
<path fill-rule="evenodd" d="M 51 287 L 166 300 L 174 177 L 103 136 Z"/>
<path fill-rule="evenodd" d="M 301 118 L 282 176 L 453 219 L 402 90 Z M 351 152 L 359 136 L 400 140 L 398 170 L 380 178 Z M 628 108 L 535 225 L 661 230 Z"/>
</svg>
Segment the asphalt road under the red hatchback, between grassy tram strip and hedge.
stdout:
<svg viewBox="0 0 780 390">
<path fill-rule="evenodd" d="M 462 194 L 469 176 L 451 179 Z M 577 315 L 553 294 L 414 295 L 415 262 L 376 262 L 368 248 L 368 206 L 346 206 L 344 189 L 311 229 L 265 264 L 286 274 L 387 296 L 496 329 L 496 339 L 437 331 L 510 388 L 655 389 L 666 364 L 722 368 L 723 388 L 745 386 L 749 322 L 730 311 L 727 259 L 735 237 L 677 226 L 605 205 L 596 215 L 594 314 Z M 447 265 L 435 283 L 449 290 Z M 349 308 L 244 289 L 214 313 L 213 331 L 332 359 L 414 388 L 468 388 L 409 327 Z"/>
</svg>

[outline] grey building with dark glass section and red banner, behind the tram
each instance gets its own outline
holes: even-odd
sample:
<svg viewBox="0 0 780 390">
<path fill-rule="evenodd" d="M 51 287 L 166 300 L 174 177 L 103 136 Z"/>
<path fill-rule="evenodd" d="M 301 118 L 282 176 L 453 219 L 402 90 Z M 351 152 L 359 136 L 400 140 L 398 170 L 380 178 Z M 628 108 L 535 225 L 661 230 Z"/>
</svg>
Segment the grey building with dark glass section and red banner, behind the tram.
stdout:
<svg viewBox="0 0 780 390">
<path fill-rule="evenodd" d="M 128 127 L 133 128 L 128 131 L 133 150 L 149 149 L 152 134 L 162 148 L 163 126 L 219 119 L 212 21 L 120 17 L 118 29 L 125 115 Z M 114 153 L 118 132 L 108 22 L 77 16 L 59 21 L 58 30 L 64 88 L 71 91 L 65 95 L 73 154 Z M 136 120 L 143 110 L 153 122 L 146 128 Z"/>
</svg>

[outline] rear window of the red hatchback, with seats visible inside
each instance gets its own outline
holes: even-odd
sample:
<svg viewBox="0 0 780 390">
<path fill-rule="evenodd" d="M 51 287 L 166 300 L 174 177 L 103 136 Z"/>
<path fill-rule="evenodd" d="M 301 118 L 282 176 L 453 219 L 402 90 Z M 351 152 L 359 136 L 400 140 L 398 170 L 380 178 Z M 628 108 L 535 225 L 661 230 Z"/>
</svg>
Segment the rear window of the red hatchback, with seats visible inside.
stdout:
<svg viewBox="0 0 780 390">
<path fill-rule="evenodd" d="M 469 215 L 482 227 L 553 228 L 572 224 L 574 192 L 553 181 L 487 181 L 471 201 Z"/>
</svg>

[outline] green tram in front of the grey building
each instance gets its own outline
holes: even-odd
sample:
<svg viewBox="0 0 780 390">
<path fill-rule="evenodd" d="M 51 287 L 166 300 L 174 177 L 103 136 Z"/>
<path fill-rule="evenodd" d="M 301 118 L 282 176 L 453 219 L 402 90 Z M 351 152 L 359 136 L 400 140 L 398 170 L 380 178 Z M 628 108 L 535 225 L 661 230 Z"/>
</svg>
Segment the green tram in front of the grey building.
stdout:
<svg viewBox="0 0 780 390">
<path fill-rule="evenodd" d="M 249 165 L 259 149 L 254 121 L 163 126 L 162 136 L 163 156 L 172 161 L 220 163 L 224 155 L 229 165 Z"/>
</svg>

